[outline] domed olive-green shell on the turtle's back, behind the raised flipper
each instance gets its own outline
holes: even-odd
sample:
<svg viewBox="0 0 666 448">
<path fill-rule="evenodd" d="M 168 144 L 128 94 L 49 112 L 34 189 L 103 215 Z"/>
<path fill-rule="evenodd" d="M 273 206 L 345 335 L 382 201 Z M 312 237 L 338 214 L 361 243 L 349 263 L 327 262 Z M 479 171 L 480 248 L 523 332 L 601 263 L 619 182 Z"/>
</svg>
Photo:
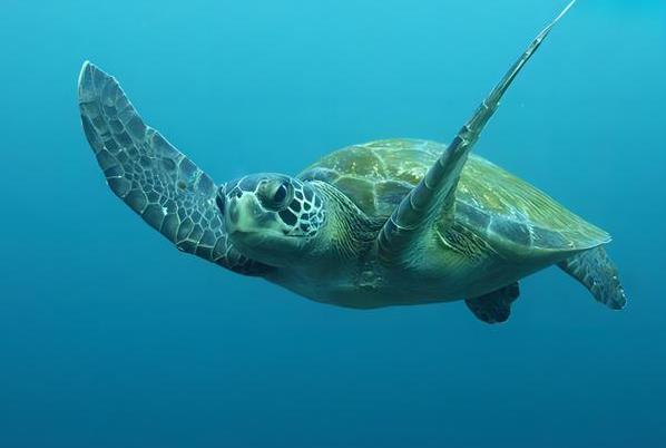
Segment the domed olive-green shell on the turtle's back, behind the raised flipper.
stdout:
<svg viewBox="0 0 666 448">
<path fill-rule="evenodd" d="M 444 149 L 428 140 L 371 142 L 332 153 L 300 177 L 327 182 L 368 215 L 388 217 Z M 461 173 L 454 213 L 457 223 L 491 245 L 513 251 L 575 251 L 610 241 L 605 231 L 474 155 Z"/>
</svg>

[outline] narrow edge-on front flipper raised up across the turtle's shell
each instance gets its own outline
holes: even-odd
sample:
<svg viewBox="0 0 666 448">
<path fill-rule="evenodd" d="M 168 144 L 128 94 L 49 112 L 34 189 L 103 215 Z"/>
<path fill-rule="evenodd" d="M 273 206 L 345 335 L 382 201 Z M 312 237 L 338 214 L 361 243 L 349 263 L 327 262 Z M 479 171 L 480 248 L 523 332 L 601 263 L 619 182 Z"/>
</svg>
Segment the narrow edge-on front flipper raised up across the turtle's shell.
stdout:
<svg viewBox="0 0 666 448">
<path fill-rule="evenodd" d="M 385 263 L 401 263 L 409 261 L 410 256 L 413 257 L 411 250 L 418 246 L 413 243 L 421 237 L 423 231 L 431 227 L 433 220 L 442 216 L 442 210 L 452 212 L 456 187 L 462 167 L 486 124 L 497 110 L 501 97 L 555 25 L 575 2 L 576 0 L 572 0 L 531 41 L 490 95 L 477 108 L 470 120 L 460 129 L 449 147 L 430 167 L 425 176 L 395 207 L 378 238 L 379 254 Z"/>
</svg>

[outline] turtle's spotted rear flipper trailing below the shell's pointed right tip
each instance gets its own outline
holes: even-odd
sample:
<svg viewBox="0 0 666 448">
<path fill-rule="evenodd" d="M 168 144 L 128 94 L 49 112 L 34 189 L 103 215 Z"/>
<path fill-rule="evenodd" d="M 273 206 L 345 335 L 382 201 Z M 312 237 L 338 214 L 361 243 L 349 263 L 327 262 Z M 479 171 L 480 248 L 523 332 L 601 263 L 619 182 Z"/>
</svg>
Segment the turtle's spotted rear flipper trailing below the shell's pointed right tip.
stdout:
<svg viewBox="0 0 666 448">
<path fill-rule="evenodd" d="M 625 290 L 619 281 L 617 267 L 604 246 L 580 252 L 558 266 L 587 288 L 598 302 L 613 310 L 621 310 L 627 304 Z"/>
</svg>

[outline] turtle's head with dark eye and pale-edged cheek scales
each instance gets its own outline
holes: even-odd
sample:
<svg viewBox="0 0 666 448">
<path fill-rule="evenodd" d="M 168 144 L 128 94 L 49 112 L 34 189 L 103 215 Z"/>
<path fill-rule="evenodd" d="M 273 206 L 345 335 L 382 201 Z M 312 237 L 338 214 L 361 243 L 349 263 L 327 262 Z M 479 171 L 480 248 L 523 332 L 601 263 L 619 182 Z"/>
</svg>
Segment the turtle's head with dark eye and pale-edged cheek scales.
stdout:
<svg viewBox="0 0 666 448">
<path fill-rule="evenodd" d="M 275 266 L 307 253 L 326 221 L 324 201 L 312 185 L 282 174 L 228 182 L 216 202 L 234 246 Z"/>
</svg>

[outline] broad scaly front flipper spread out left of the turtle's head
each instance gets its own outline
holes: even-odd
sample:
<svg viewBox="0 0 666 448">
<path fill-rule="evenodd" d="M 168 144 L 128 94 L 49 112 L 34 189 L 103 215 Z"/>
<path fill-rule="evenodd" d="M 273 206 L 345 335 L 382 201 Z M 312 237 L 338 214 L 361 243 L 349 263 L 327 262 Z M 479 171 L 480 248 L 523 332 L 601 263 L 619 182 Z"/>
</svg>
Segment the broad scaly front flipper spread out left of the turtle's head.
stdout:
<svg viewBox="0 0 666 448">
<path fill-rule="evenodd" d="M 263 272 L 231 245 L 210 177 L 144 124 L 115 78 L 85 62 L 78 96 L 86 137 L 118 197 L 179 250 L 235 272 Z"/>
</svg>

